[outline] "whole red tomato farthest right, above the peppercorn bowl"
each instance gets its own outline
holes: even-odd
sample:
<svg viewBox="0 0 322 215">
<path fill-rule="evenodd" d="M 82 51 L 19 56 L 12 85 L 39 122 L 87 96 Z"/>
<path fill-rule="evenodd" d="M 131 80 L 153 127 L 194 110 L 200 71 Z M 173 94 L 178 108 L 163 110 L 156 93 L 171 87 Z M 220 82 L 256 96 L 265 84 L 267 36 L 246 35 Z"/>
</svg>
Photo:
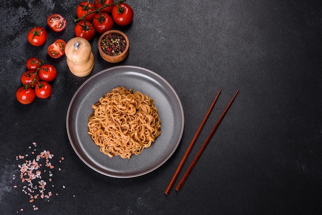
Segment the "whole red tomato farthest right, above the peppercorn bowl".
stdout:
<svg viewBox="0 0 322 215">
<path fill-rule="evenodd" d="M 133 20 L 133 9 L 126 3 L 115 5 L 112 9 L 112 17 L 118 25 L 128 25 Z"/>
</svg>

